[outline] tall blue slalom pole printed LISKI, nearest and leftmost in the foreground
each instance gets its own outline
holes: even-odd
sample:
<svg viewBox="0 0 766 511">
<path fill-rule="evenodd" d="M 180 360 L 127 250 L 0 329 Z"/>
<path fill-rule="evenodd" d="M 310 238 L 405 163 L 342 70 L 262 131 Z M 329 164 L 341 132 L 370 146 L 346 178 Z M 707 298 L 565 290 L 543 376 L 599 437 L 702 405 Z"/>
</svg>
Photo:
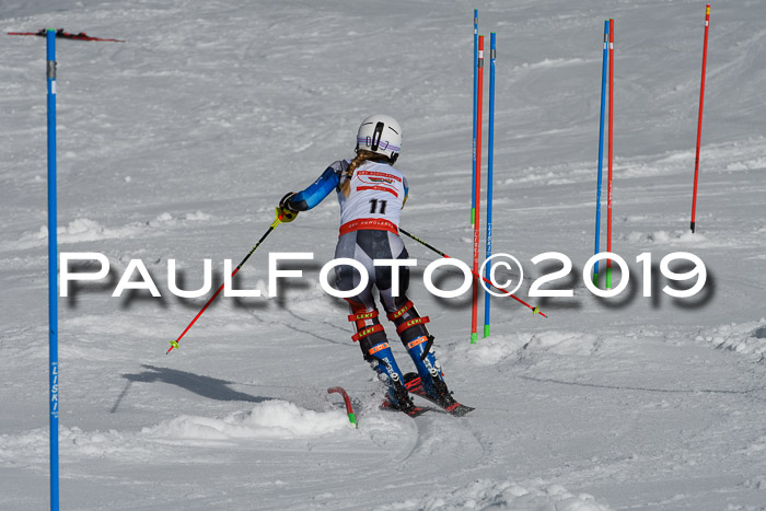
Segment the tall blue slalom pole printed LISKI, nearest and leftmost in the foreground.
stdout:
<svg viewBox="0 0 766 511">
<path fill-rule="evenodd" d="M 50 509 L 58 511 L 58 241 L 56 237 L 56 31 L 48 28 L 48 361 L 50 365 Z"/>
</svg>

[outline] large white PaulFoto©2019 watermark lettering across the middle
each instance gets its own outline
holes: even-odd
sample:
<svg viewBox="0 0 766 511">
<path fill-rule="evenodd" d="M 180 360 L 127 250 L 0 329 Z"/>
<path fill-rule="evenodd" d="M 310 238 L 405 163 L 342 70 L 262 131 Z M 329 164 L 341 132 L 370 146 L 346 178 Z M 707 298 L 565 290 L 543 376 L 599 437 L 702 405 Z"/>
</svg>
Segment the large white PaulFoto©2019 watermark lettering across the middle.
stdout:
<svg viewBox="0 0 766 511">
<path fill-rule="evenodd" d="M 307 262 L 314 259 L 313 252 L 272 252 L 268 256 L 268 298 L 275 298 L 279 293 L 278 282 L 280 279 L 302 278 L 303 271 L 300 269 L 280 269 L 280 262 Z M 619 282 L 612 289 L 599 288 L 591 277 L 593 267 L 596 262 L 606 260 L 608 265 L 614 265 L 619 268 Z M 537 266 L 544 262 L 557 262 L 555 271 L 547 272 L 537 277 L 532 281 L 526 295 L 531 298 L 571 298 L 574 295 L 572 289 L 555 288 L 555 281 L 568 277 L 572 271 L 571 259 L 559 252 L 546 252 L 532 257 L 530 262 Z M 681 266 L 684 268 L 690 266 L 683 272 L 677 272 L 671 269 L 671 264 L 674 262 L 683 262 Z M 100 265 L 96 271 L 84 271 L 82 268 L 72 268 L 72 263 L 80 263 L 80 266 Z M 652 295 L 652 272 L 654 271 L 653 258 L 651 253 L 645 252 L 636 257 L 636 263 L 641 267 L 642 276 L 642 294 L 643 297 Z M 356 268 L 360 280 L 358 286 L 351 290 L 338 290 L 330 286 L 329 275 L 338 266 L 348 265 Z M 396 297 L 399 294 L 399 271 L 396 268 L 417 267 L 417 259 L 375 259 L 376 267 L 392 268 L 392 293 Z M 463 279 L 461 284 L 451 290 L 439 288 L 433 282 L 433 274 L 442 267 L 451 267 L 454 270 L 462 272 Z M 70 282 L 98 281 L 106 278 L 109 274 L 109 259 L 97 252 L 62 252 L 60 254 L 59 266 L 59 294 L 60 297 L 69 295 Z M 662 292 L 674 298 L 692 298 L 699 293 L 707 281 L 707 269 L 705 263 L 698 256 L 688 252 L 673 252 L 665 255 L 660 260 L 660 272 L 671 282 L 686 283 L 683 289 L 676 289 L 670 286 L 670 282 L 662 288 Z M 502 281 L 499 281 L 498 270 L 502 270 Z M 259 298 L 262 295 L 258 289 L 235 289 L 232 284 L 232 277 L 236 270 L 232 270 L 232 260 L 223 260 L 223 294 L 230 298 Z M 618 254 L 603 252 L 588 259 L 581 271 L 582 281 L 587 289 L 596 297 L 613 298 L 622 293 L 628 286 L 630 279 L 630 270 L 626 260 Z M 486 277 L 484 277 L 486 276 Z M 485 279 L 491 287 L 485 283 Z M 478 275 L 474 274 L 467 264 L 455 258 L 437 259 L 429 263 L 422 274 L 422 281 L 426 289 L 433 295 L 439 298 L 459 298 L 472 289 L 475 280 L 484 287 L 489 293 L 495 295 L 508 295 L 515 293 L 524 279 L 524 269 L 514 256 L 510 254 L 495 254 L 488 259 L 485 259 Z M 196 290 L 184 290 L 177 286 L 176 277 L 176 260 L 167 259 L 167 291 L 178 298 L 193 299 L 200 298 L 210 292 L 212 289 L 212 259 L 204 259 L 202 262 L 202 286 Z M 336 298 L 351 298 L 359 294 L 369 283 L 368 271 L 364 266 L 355 259 L 336 258 L 327 262 L 320 270 L 320 286 L 327 293 Z M 689 286 L 690 282 L 694 282 Z M 547 284 L 545 289 L 543 286 Z M 495 289 L 492 289 L 495 288 Z M 125 290 L 143 290 L 151 293 L 152 297 L 160 298 L 160 292 L 154 279 L 152 279 L 147 266 L 141 259 L 130 259 L 130 263 L 125 268 L 123 276 L 117 282 L 112 297 L 121 297 Z M 501 292 L 498 292 L 499 290 Z"/>
</svg>

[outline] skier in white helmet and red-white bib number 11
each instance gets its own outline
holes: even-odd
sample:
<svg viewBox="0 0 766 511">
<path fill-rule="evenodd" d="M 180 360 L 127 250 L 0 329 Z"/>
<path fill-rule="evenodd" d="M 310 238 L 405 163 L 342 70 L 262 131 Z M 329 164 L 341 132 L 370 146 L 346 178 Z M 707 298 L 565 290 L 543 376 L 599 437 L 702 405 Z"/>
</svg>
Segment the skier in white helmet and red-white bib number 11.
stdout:
<svg viewBox="0 0 766 511">
<path fill-rule="evenodd" d="M 440 406 L 456 402 L 443 380 L 441 367 L 431 349 L 433 336 L 405 292 L 409 269 L 397 266 L 398 294 L 392 292 L 392 266 L 374 266 L 375 259 L 407 259 L 407 249 L 398 234 L 399 211 L 407 200 L 407 179 L 393 165 L 402 147 L 402 128 L 387 115 L 372 115 L 362 120 L 357 132 L 353 160 L 330 164 L 312 185 L 299 193 L 289 193 L 279 202 L 277 214 L 292 221 L 298 212 L 314 208 L 335 189 L 340 204 L 340 235 L 335 257 L 358 260 L 367 269 L 367 287 L 356 297 L 347 298 L 357 328 L 353 340 L 370 362 L 379 379 L 387 384 L 387 405 L 411 413 L 413 404 L 405 378 L 388 347 L 383 325 L 379 321 L 373 298 L 378 288 L 386 317 L 394 322 L 396 333 L 415 362 L 426 393 Z M 336 266 L 336 287 L 350 291 L 360 283 L 358 271 L 348 265 Z"/>
</svg>

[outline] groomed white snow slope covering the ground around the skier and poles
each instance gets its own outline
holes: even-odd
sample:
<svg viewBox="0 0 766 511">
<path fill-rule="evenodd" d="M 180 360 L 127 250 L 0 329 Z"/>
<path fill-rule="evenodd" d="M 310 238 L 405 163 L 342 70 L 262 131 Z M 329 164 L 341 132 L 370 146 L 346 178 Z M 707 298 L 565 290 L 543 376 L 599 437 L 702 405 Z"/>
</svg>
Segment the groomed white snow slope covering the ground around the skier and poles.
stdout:
<svg viewBox="0 0 766 511">
<path fill-rule="evenodd" d="M 410 298 L 431 317 L 448 383 L 476 410 L 379 409 L 346 305 L 317 284 L 334 253 L 333 197 L 278 227 L 235 283 L 265 290 L 269 252 L 313 252 L 291 266 L 302 278 L 277 299 L 219 297 L 165 356 L 207 299 L 174 297 L 167 260 L 196 289 L 210 258 L 218 286 L 223 260 L 245 256 L 285 193 L 352 155 L 372 113 L 404 128 L 402 225 L 471 260 L 474 8 L 480 32 L 498 37 L 494 251 L 522 262 L 518 294 L 548 315 L 492 299 L 491 336 L 469 345 L 469 295 L 430 295 L 422 272 L 438 256 L 406 241 L 419 260 Z M 60 299 L 61 506 L 766 509 L 766 3 L 712 5 L 692 234 L 704 14 L 704 2 L 681 0 L 0 0 L 3 32 L 127 40 L 57 42 L 59 251 L 111 264 Z M 613 251 L 629 284 L 599 299 L 581 272 L 608 18 Z M 44 48 L 4 34 L 0 46 L 3 510 L 48 506 Z M 552 251 L 573 268 L 545 288 L 573 297 L 530 298 L 560 267 L 531 259 Z M 663 292 L 689 286 L 660 272 L 673 252 L 705 264 L 694 298 Z M 112 297 L 131 259 L 161 298 Z M 327 394 L 335 385 L 351 394 L 359 429 Z"/>
</svg>

